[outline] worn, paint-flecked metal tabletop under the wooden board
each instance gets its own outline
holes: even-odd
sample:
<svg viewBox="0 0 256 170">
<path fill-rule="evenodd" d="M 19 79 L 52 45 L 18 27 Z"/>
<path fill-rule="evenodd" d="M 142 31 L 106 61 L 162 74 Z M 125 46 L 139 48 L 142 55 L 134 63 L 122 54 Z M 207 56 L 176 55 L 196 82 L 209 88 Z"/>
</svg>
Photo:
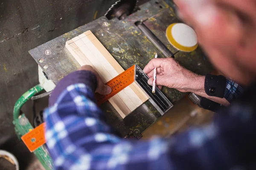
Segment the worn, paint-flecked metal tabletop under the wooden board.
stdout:
<svg viewBox="0 0 256 170">
<path fill-rule="evenodd" d="M 178 20 L 175 18 L 173 9 L 165 1 L 159 0 L 158 2 L 155 3 L 154 0 L 151 0 L 143 4 L 140 6 L 140 11 L 130 15 L 125 20 L 118 20 L 116 18 L 107 20 L 105 17 L 101 17 L 40 45 L 29 51 L 29 53 L 45 71 L 49 79 L 54 83 L 58 83 L 64 76 L 72 71 L 76 71 L 80 67 L 65 48 L 65 42 L 82 34 L 84 31 L 91 30 L 122 68 L 128 69 L 134 64 L 144 68 L 150 59 L 154 58 L 156 52 L 159 54 L 159 57 L 163 57 L 163 54 L 157 50 L 134 24 L 137 21 L 145 21 L 144 23 L 151 31 L 172 52 L 177 53 L 175 59 L 181 65 L 198 74 L 209 73 L 211 66 L 199 48 L 192 53 L 182 53 L 169 44 L 165 37 L 165 30 L 169 24 Z M 51 54 L 46 55 L 46 50 L 50 50 Z M 39 62 L 39 59 L 44 59 L 44 62 Z M 44 65 L 47 65 L 48 68 L 45 69 Z M 163 93 L 172 103 L 177 102 L 184 96 L 183 93 L 169 88 L 163 88 Z M 125 136 L 134 130 L 136 132 L 139 130 L 141 133 L 160 117 L 160 113 L 148 101 L 125 119 L 119 116 L 109 102 L 103 104 L 101 108 L 105 112 L 108 122 L 121 136 Z"/>
</svg>

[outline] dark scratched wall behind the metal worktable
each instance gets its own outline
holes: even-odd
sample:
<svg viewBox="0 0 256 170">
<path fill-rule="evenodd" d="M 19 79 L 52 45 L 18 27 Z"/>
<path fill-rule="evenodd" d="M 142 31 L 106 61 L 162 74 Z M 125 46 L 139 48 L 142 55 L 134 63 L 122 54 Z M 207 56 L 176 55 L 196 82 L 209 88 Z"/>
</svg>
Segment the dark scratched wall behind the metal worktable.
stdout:
<svg viewBox="0 0 256 170">
<path fill-rule="evenodd" d="M 20 169 L 32 155 L 15 135 L 13 106 L 38 84 L 37 64 L 28 51 L 103 16 L 115 1 L 0 0 L 0 149 L 15 153 Z M 23 112 L 32 119 L 31 102 Z"/>
</svg>

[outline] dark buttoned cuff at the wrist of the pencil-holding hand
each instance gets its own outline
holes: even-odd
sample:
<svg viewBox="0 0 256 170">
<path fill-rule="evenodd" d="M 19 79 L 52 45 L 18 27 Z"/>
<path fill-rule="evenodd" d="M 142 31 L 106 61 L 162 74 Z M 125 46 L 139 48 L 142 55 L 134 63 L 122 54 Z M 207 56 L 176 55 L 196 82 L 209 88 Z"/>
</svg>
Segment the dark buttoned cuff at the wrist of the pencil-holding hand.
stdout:
<svg viewBox="0 0 256 170">
<path fill-rule="evenodd" d="M 224 97 L 226 77 L 207 74 L 205 76 L 204 90 L 208 96 Z"/>
</svg>

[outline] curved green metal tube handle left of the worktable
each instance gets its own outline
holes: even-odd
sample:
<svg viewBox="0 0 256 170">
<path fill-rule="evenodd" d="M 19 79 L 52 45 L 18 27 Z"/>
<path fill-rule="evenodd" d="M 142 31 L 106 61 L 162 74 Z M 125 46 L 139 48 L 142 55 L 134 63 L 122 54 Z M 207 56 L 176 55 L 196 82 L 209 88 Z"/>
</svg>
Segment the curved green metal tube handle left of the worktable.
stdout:
<svg viewBox="0 0 256 170">
<path fill-rule="evenodd" d="M 43 91 L 44 88 L 38 84 L 35 87 L 29 89 L 29 91 L 27 91 L 26 93 L 24 93 L 15 103 L 14 105 L 14 109 L 13 109 L 13 120 L 18 119 L 18 117 L 20 116 L 20 109 L 22 108 L 22 106 L 35 94 Z"/>
</svg>

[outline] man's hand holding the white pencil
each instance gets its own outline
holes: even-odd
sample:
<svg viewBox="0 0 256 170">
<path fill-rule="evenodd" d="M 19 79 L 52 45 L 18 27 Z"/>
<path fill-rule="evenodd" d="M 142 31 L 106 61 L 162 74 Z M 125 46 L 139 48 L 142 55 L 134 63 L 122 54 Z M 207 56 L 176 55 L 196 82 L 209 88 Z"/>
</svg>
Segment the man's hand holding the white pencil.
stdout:
<svg viewBox="0 0 256 170">
<path fill-rule="evenodd" d="M 194 92 L 204 89 L 204 76 L 197 75 L 179 65 L 173 58 L 152 59 L 145 66 L 144 72 L 150 78 L 148 84 L 153 84 L 154 68 L 157 68 L 156 85 L 166 86 L 181 92 Z"/>
</svg>

